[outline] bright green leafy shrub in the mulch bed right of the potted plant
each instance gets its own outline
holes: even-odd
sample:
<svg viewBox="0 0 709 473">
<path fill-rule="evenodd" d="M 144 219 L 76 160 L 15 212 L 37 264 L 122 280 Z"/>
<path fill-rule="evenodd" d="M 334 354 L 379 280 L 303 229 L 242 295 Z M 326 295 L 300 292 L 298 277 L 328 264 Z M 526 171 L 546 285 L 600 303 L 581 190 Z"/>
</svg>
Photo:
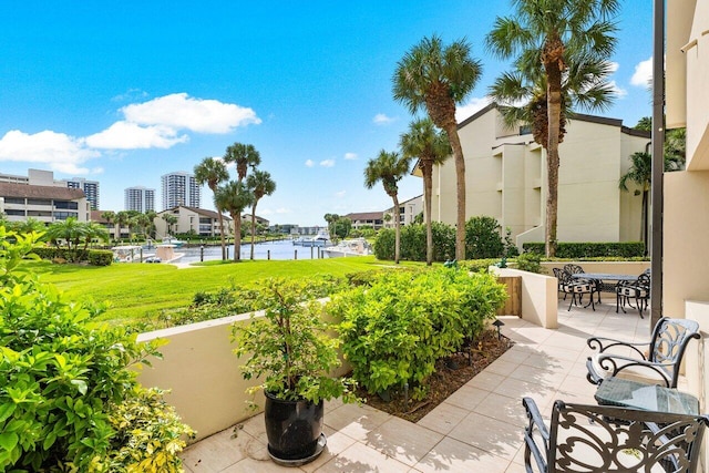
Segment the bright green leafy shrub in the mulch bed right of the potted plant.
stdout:
<svg viewBox="0 0 709 473">
<path fill-rule="evenodd" d="M 342 352 L 360 385 L 376 393 L 408 384 L 420 398 L 435 361 L 480 335 L 505 299 L 490 275 L 438 268 L 381 274 L 332 296 L 327 310 L 341 321 Z"/>
</svg>

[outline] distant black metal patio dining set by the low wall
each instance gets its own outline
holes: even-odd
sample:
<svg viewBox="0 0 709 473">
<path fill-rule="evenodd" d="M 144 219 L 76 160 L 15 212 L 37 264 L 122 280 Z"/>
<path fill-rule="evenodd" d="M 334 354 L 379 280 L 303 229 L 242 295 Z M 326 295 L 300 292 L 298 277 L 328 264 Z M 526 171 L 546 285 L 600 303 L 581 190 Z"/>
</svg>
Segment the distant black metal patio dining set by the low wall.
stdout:
<svg viewBox="0 0 709 473">
<path fill-rule="evenodd" d="M 600 304 L 600 292 L 615 292 L 616 312 L 618 309 L 625 313 L 626 306 L 638 310 L 640 318 L 643 311 L 647 309 L 650 299 L 650 271 L 644 271 L 639 276 L 616 275 L 608 273 L 586 273 L 578 265 L 565 265 L 563 268 L 554 268 L 554 276 L 558 281 L 558 291 L 564 294 L 564 300 L 568 295 L 572 300 L 568 310 L 573 305 L 580 306 L 584 295 L 588 295 L 588 304 L 596 310 L 596 302 Z M 594 300 L 594 294 L 597 301 Z M 635 301 L 635 306 L 633 302 Z"/>
</svg>

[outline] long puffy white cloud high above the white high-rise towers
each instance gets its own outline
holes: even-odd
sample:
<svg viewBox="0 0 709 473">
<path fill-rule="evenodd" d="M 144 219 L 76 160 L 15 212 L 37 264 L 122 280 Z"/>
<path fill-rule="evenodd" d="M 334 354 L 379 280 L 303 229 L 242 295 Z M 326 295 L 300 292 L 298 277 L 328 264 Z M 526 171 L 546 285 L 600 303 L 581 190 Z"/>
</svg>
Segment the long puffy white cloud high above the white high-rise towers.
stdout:
<svg viewBox="0 0 709 473">
<path fill-rule="evenodd" d="M 147 126 L 168 126 L 197 133 L 229 133 L 237 126 L 261 120 L 251 109 L 216 100 L 203 100 L 175 93 L 121 109 L 129 122 Z"/>
</svg>

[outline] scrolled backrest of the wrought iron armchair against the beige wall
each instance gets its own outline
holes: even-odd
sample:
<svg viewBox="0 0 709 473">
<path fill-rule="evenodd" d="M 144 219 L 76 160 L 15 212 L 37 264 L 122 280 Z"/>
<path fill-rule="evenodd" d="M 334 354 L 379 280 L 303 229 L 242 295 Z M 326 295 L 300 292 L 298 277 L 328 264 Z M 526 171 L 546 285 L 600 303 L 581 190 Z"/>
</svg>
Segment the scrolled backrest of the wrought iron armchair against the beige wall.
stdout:
<svg viewBox="0 0 709 473">
<path fill-rule="evenodd" d="M 654 363 L 671 363 L 672 379 L 676 380 L 687 343 L 692 338 L 700 338 L 698 322 L 662 317 L 653 329 L 648 360 Z"/>
</svg>

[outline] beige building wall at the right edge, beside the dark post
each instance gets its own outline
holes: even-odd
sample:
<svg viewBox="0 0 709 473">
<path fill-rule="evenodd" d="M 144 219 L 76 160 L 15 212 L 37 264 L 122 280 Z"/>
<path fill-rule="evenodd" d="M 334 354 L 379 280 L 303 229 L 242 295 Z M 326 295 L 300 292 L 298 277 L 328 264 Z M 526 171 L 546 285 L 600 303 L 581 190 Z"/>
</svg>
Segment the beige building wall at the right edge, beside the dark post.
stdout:
<svg viewBox="0 0 709 473">
<path fill-rule="evenodd" d="M 687 127 L 686 171 L 665 174 L 662 315 L 697 320 L 687 353 L 689 390 L 709 411 L 709 2 L 668 0 L 667 127 Z M 706 439 L 706 438 L 705 438 Z M 703 471 L 709 471 L 705 440 Z"/>
</svg>

